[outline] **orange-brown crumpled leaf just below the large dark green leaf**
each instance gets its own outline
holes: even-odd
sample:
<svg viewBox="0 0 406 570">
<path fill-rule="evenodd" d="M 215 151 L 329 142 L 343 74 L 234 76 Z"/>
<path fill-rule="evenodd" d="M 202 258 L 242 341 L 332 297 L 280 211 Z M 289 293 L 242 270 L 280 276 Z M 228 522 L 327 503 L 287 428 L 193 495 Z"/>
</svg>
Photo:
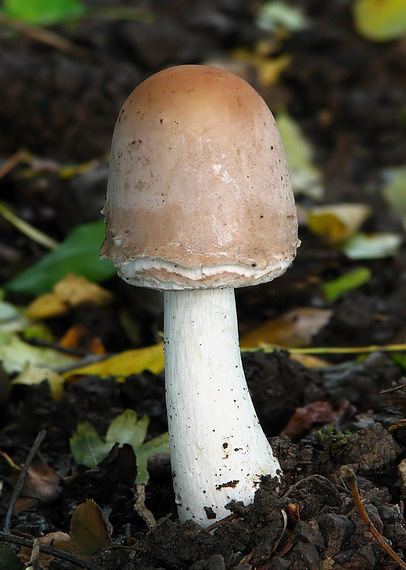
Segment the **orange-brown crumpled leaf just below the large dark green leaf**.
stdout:
<svg viewBox="0 0 406 570">
<path fill-rule="evenodd" d="M 81 303 L 106 305 L 113 300 L 113 295 L 85 277 L 66 275 L 54 287 L 52 293 L 45 293 L 35 299 L 27 309 L 27 317 L 46 319 L 65 313 L 69 307 Z"/>
</svg>

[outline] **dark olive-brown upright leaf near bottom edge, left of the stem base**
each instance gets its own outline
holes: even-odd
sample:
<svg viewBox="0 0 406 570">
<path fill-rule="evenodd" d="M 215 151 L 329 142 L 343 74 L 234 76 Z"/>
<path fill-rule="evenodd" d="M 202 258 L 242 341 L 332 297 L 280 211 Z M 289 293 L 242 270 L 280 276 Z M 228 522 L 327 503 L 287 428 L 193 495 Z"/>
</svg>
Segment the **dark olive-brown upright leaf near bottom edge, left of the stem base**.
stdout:
<svg viewBox="0 0 406 570">
<path fill-rule="evenodd" d="M 54 548 L 70 552 L 82 560 L 91 560 L 92 556 L 112 545 L 108 525 L 100 507 L 88 499 L 79 505 L 71 519 L 70 539 L 56 536 Z"/>
</svg>

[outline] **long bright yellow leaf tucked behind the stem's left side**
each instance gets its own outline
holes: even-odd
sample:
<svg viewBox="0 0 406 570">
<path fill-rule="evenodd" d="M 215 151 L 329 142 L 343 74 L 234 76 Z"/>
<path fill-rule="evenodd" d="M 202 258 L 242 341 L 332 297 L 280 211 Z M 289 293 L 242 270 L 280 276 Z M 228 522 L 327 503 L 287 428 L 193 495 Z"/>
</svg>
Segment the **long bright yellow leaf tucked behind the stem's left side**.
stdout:
<svg viewBox="0 0 406 570">
<path fill-rule="evenodd" d="M 127 377 L 131 374 L 139 374 L 143 370 L 150 370 L 158 374 L 163 369 L 164 350 L 163 344 L 160 343 L 145 348 L 126 350 L 116 356 L 106 358 L 106 360 L 69 370 L 64 376 L 68 378 L 78 374 L 95 374 L 101 378 L 108 378 L 109 376 Z"/>
</svg>

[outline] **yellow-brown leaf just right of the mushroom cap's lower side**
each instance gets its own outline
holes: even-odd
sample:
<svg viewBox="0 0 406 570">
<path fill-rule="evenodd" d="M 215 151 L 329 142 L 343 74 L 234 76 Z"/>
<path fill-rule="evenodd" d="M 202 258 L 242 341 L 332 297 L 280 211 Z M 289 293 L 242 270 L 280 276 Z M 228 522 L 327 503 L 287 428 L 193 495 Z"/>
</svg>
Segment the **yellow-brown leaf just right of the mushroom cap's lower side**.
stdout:
<svg viewBox="0 0 406 570">
<path fill-rule="evenodd" d="M 371 212 L 366 204 L 333 204 L 309 209 L 307 226 L 330 245 L 345 241 L 364 223 Z"/>
</svg>

